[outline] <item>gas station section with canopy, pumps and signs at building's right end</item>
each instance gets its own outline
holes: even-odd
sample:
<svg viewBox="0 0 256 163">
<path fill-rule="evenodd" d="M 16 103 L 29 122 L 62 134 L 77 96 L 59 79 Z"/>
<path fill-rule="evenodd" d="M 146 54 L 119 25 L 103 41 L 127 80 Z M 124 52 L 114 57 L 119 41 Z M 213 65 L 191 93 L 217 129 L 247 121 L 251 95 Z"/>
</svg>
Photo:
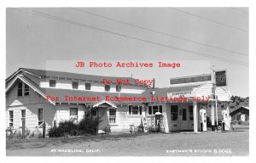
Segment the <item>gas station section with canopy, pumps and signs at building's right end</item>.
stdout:
<svg viewBox="0 0 256 163">
<path fill-rule="evenodd" d="M 149 104 L 149 107 L 162 105 L 161 116 L 155 113 L 155 126 L 162 124 L 165 132 L 229 131 L 230 91 L 226 88 L 226 70 L 213 70 L 211 74 L 184 76 L 170 79 L 170 87 L 155 91 L 155 96 L 187 98 L 186 102 L 166 102 Z M 195 97 L 209 97 L 207 101 L 193 100 Z M 223 104 L 222 107 L 218 103 Z M 221 114 L 221 115 L 220 115 Z M 207 125 L 207 116 L 210 123 Z M 220 118 L 220 116 L 222 118 Z M 162 121 L 160 121 L 162 119 Z M 160 121 L 160 122 L 159 122 Z M 160 127 L 160 125 L 159 125 Z"/>
</svg>

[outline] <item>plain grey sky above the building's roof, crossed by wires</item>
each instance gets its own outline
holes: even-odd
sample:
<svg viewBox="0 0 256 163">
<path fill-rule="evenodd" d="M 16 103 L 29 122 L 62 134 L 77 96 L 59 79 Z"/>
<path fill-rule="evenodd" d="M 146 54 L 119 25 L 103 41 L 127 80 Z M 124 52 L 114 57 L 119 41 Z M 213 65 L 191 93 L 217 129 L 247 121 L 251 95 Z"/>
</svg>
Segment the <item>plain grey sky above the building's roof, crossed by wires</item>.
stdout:
<svg viewBox="0 0 256 163">
<path fill-rule="evenodd" d="M 155 78 L 156 87 L 168 87 L 172 77 L 210 73 L 215 65 L 216 70 L 227 70 L 232 95 L 248 97 L 247 13 L 247 8 L 7 8 L 6 76 L 20 67 L 132 74 Z M 77 61 L 163 61 L 182 66 L 77 68 Z"/>
</svg>

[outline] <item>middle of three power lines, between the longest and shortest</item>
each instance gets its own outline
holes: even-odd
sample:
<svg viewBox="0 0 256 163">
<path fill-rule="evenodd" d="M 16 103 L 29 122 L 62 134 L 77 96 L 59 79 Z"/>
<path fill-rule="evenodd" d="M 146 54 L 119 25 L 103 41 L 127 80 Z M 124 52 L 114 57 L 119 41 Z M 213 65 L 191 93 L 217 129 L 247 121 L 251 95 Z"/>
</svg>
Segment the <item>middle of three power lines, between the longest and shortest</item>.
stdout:
<svg viewBox="0 0 256 163">
<path fill-rule="evenodd" d="M 226 52 L 236 53 L 236 54 L 239 54 L 239 55 L 243 55 L 243 56 L 247 56 L 247 57 L 248 57 L 248 55 L 245 54 L 245 53 L 236 52 L 236 51 L 233 51 L 233 50 L 230 50 L 230 49 L 226 49 L 226 48 L 219 48 L 219 47 L 212 46 L 212 45 L 209 45 L 209 44 L 206 44 L 206 43 L 202 43 L 202 42 L 196 42 L 196 41 L 193 41 L 193 40 L 184 38 L 184 37 L 177 37 L 177 36 L 170 35 L 170 34 L 168 34 L 168 33 L 166 33 L 166 32 L 163 32 L 163 31 L 157 31 L 157 30 L 150 29 L 150 28 L 143 27 L 143 26 L 133 25 L 133 24 L 131 24 L 131 23 L 127 23 L 127 22 L 120 21 L 120 20 L 115 20 L 115 19 L 113 19 L 113 18 L 109 18 L 109 17 L 107 17 L 107 16 L 103 16 L 103 15 L 100 15 L 100 14 L 90 13 L 89 11 L 85 11 L 85 10 L 82 10 L 82 9 L 78 9 L 78 8 L 72 8 L 72 9 L 77 10 L 77 11 L 82 12 L 82 13 L 85 13 L 85 14 L 91 14 L 91 15 L 94 15 L 94 16 L 97 16 L 97 17 L 100 17 L 100 18 L 103 18 L 103 19 L 112 20 L 112 21 L 118 22 L 118 23 L 123 24 L 123 25 L 130 25 L 130 26 L 134 26 L 134 27 L 137 27 L 137 28 L 139 28 L 139 29 L 142 29 L 142 30 L 153 31 L 154 33 L 159 33 L 159 34 L 165 35 L 165 36 L 167 36 L 167 37 L 173 37 L 173 38 L 176 38 L 176 39 L 179 39 L 179 40 L 184 40 L 184 41 L 187 41 L 187 42 L 193 42 L 193 43 L 201 44 L 201 45 L 203 45 L 203 46 L 207 46 L 207 47 L 211 47 L 211 48 L 218 48 L 218 49 L 224 50 L 224 51 L 226 51 Z"/>
</svg>

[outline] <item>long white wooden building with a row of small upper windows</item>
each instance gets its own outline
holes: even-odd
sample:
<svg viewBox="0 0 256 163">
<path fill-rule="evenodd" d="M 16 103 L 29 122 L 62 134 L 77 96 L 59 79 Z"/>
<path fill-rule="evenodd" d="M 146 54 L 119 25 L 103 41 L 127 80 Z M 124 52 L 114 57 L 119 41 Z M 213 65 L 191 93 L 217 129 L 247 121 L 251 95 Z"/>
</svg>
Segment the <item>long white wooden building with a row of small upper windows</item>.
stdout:
<svg viewBox="0 0 256 163">
<path fill-rule="evenodd" d="M 105 85 L 103 78 L 113 81 L 120 77 L 90 76 L 51 70 L 34 70 L 20 68 L 6 79 L 6 127 L 19 129 L 21 121 L 26 121 L 26 128 L 33 131 L 43 121 L 49 128 L 60 121 L 74 118 L 82 119 L 85 110 L 91 109 L 92 115 L 102 115 L 100 132 L 129 132 L 130 125 L 138 126 L 141 118 L 147 117 L 148 124 L 154 125 L 154 114 L 163 115 L 165 132 L 191 130 L 199 131 L 199 109 L 201 102 L 192 102 L 193 96 L 211 96 L 211 82 L 200 82 L 175 87 L 152 88 L 128 84 L 117 86 L 116 83 Z M 124 78 L 124 77 L 123 77 Z M 129 80 L 135 79 L 128 77 Z M 127 79 L 127 78 L 125 78 Z M 154 91 L 154 93 L 153 93 Z M 116 97 L 148 97 L 170 96 L 173 93 L 187 93 L 187 102 L 109 102 L 101 101 L 71 101 L 63 98 L 46 100 L 47 96 L 86 96 L 104 99 Z M 188 94 L 189 93 L 189 94 Z M 230 92 L 224 87 L 216 90 L 218 100 L 229 101 Z M 210 103 L 212 103 L 212 98 Z M 212 105 L 213 106 L 213 105 Z"/>
</svg>

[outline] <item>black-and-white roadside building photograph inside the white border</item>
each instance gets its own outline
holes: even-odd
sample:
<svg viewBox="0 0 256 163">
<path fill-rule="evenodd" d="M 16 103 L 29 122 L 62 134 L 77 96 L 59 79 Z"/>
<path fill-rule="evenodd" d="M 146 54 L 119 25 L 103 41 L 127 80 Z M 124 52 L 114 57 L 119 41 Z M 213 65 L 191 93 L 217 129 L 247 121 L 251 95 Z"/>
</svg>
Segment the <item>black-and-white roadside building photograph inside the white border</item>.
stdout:
<svg viewBox="0 0 256 163">
<path fill-rule="evenodd" d="M 6 157 L 249 157 L 250 11 L 7 6 Z"/>
</svg>

